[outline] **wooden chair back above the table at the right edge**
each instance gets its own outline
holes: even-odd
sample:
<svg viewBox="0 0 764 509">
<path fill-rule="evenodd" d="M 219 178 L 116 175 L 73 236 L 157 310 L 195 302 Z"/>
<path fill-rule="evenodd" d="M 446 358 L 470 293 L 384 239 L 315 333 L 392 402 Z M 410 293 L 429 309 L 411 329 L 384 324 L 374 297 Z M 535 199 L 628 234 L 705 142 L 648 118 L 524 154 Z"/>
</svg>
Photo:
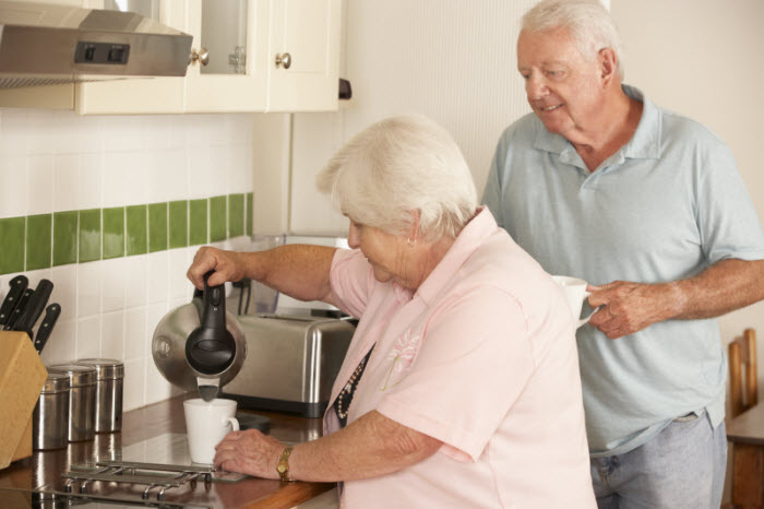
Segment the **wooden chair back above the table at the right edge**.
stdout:
<svg viewBox="0 0 764 509">
<path fill-rule="evenodd" d="M 756 332 L 745 329 L 729 344 L 729 393 L 732 417 L 759 403 Z"/>
</svg>

